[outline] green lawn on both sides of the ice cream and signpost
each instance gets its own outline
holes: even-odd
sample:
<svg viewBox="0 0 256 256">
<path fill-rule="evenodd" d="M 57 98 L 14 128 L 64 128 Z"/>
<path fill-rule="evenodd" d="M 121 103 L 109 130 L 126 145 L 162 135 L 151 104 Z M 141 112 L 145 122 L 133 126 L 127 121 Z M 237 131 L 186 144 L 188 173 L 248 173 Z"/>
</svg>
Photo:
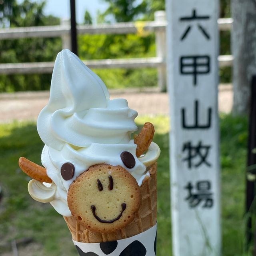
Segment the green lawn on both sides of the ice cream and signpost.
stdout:
<svg viewBox="0 0 256 256">
<path fill-rule="evenodd" d="M 142 126 L 156 128 L 154 141 L 161 148 L 158 161 L 158 256 L 171 255 L 168 131 L 164 116 L 137 118 Z M 221 116 L 222 252 L 223 256 L 246 256 L 244 252 L 244 196 L 247 120 Z M 43 143 L 34 123 L 0 125 L 0 254 L 13 239 L 32 237 L 42 247 L 40 255 L 78 255 L 62 217 L 50 206 L 34 201 L 27 192 L 28 178 L 18 168 L 25 156 L 40 164 Z M 34 252 L 34 255 L 39 255 Z"/>
</svg>

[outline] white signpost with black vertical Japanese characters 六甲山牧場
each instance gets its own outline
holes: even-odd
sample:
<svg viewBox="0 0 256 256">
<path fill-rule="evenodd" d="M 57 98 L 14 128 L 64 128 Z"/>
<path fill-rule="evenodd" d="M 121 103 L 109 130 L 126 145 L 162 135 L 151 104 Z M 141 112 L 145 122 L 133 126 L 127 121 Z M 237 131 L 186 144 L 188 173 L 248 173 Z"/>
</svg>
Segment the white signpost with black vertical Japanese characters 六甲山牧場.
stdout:
<svg viewBox="0 0 256 256">
<path fill-rule="evenodd" d="M 218 0 L 166 0 L 174 256 L 220 256 Z"/>
</svg>

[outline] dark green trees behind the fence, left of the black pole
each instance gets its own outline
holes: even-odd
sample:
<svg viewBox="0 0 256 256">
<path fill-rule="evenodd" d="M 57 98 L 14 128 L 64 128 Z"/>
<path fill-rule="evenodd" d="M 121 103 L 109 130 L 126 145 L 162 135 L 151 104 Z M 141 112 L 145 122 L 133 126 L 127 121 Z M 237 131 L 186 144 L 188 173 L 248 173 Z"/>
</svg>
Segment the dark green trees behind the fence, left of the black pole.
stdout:
<svg viewBox="0 0 256 256">
<path fill-rule="evenodd" d="M 8 4 L 11 3 L 11 4 Z M 0 1 L 1 3 L 1 1 Z M 4 0 L 0 4 L 0 26 L 57 25 L 60 20 L 43 14 L 45 1 L 40 3 L 24 0 Z M 0 40 L 0 63 L 53 61 L 61 50 L 60 38 L 21 38 Z M 46 90 L 50 88 L 50 74 L 1 75 L 0 92 L 20 90 Z"/>
</svg>

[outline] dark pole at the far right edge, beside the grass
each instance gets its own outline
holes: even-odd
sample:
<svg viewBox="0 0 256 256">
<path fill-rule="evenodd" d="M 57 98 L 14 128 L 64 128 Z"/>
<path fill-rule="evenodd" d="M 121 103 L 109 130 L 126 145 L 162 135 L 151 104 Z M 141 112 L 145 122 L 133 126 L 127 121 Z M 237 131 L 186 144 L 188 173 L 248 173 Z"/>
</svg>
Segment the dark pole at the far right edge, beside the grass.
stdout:
<svg viewBox="0 0 256 256">
<path fill-rule="evenodd" d="M 252 77 L 251 83 L 251 99 L 250 99 L 250 116 L 249 116 L 249 135 L 248 135 L 248 155 L 247 166 L 253 166 L 256 164 L 256 76 Z M 252 174 L 256 174 L 256 170 L 250 170 Z M 255 180 L 246 180 L 246 242 L 247 248 L 252 242 L 253 230 L 252 230 L 252 203 L 255 197 Z M 254 252 L 255 255 L 255 252 Z"/>
</svg>

